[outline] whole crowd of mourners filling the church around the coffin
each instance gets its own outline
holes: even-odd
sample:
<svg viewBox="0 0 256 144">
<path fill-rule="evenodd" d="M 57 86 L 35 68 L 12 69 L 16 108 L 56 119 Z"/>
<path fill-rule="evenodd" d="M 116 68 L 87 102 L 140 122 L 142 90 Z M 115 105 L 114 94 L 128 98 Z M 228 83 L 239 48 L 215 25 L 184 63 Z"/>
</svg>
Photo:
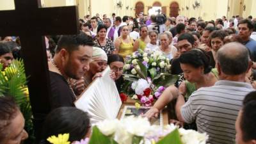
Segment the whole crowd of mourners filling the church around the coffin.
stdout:
<svg viewBox="0 0 256 144">
<path fill-rule="evenodd" d="M 256 19 L 252 16 L 205 21 L 143 13 L 138 19 L 121 18 L 113 13 L 102 19 L 86 15 L 79 22 L 77 35 L 45 36 L 52 111 L 40 143 L 59 133 L 70 133 L 71 141 L 90 136 L 88 114 L 73 108 L 74 101 L 108 65 L 120 92 L 125 58 L 139 49 L 161 52 L 172 63 L 171 74 L 179 75 L 143 116 L 157 116 L 177 100 L 177 120 L 172 122 L 207 132 L 209 143 L 256 143 Z M 1 36 L 3 68 L 22 58 L 21 46 L 19 37 Z M 22 125 L 24 118 L 15 102 L 0 97 L 0 144 L 26 139 Z"/>
</svg>

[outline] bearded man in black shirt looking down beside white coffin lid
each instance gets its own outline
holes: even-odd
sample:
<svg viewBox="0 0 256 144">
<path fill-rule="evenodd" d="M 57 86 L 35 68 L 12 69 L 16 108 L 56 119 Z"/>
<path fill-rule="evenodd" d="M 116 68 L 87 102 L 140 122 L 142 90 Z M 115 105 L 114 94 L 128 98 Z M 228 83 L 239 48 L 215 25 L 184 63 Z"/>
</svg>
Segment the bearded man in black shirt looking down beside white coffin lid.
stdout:
<svg viewBox="0 0 256 144">
<path fill-rule="evenodd" d="M 51 109 L 74 106 L 77 97 L 68 79 L 81 79 L 84 72 L 89 70 L 92 45 L 92 38 L 84 33 L 61 36 L 56 54 L 48 63 L 51 79 Z"/>
</svg>

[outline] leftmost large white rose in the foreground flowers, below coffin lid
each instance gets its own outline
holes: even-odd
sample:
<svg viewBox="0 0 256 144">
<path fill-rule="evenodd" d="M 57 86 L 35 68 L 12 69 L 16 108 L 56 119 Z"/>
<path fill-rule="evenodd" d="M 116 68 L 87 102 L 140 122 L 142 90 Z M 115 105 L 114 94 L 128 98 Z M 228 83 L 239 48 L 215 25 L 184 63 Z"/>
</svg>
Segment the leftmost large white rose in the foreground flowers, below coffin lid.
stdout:
<svg viewBox="0 0 256 144">
<path fill-rule="evenodd" d="M 118 127 L 118 120 L 104 120 L 102 122 L 97 123 L 97 127 L 99 128 L 100 132 L 105 136 L 110 136 L 116 132 Z"/>
</svg>

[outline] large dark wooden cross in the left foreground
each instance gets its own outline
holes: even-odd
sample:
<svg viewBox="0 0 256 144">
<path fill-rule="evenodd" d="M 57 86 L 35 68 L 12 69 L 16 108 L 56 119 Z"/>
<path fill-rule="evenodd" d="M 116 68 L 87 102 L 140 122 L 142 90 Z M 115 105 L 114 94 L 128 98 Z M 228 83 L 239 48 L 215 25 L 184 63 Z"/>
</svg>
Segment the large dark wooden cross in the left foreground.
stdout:
<svg viewBox="0 0 256 144">
<path fill-rule="evenodd" d="M 79 32 L 76 6 L 40 8 L 40 0 L 15 0 L 15 10 L 0 11 L 0 35 L 20 36 L 36 138 L 51 110 L 49 70 L 44 35 Z"/>
</svg>

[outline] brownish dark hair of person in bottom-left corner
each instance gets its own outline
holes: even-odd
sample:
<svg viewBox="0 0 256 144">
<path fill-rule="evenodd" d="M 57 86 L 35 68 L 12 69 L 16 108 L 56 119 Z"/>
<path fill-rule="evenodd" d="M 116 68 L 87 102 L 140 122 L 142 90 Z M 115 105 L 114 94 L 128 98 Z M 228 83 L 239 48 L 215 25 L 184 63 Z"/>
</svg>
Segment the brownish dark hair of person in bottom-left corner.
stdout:
<svg viewBox="0 0 256 144">
<path fill-rule="evenodd" d="M 6 137 L 6 128 L 17 116 L 19 108 L 12 97 L 0 97 L 0 143 Z"/>
</svg>

